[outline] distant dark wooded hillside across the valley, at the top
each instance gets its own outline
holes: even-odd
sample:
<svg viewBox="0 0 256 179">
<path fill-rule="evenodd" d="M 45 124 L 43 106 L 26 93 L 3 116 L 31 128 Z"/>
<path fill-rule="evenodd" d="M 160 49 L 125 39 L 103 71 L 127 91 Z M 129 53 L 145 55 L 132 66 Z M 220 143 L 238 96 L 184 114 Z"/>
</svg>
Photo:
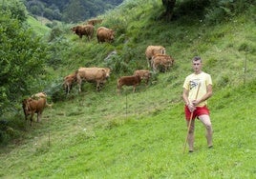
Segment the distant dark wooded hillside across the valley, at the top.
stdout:
<svg viewBox="0 0 256 179">
<path fill-rule="evenodd" d="M 123 0 L 26 0 L 27 9 L 33 14 L 50 20 L 64 22 L 85 21 L 111 10 Z"/>
</svg>

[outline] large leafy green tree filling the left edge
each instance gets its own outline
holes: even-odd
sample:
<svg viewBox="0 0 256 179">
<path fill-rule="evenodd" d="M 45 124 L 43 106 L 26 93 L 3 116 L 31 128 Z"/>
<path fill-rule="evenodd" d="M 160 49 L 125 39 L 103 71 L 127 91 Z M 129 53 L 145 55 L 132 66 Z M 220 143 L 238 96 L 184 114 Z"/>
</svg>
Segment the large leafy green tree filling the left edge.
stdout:
<svg viewBox="0 0 256 179">
<path fill-rule="evenodd" d="M 20 104 L 45 73 L 46 47 L 28 28 L 26 19 L 20 18 L 20 12 L 0 11 L 0 116 Z"/>
</svg>

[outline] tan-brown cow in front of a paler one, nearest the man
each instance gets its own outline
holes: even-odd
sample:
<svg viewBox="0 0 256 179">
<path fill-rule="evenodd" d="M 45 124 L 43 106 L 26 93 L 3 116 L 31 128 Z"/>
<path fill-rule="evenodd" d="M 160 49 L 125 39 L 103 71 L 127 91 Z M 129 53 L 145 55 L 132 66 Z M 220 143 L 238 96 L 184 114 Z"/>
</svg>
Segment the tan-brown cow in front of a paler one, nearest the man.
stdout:
<svg viewBox="0 0 256 179">
<path fill-rule="evenodd" d="M 154 71 L 162 67 L 164 72 L 166 72 L 174 64 L 174 59 L 166 54 L 157 54 L 152 57 L 151 64 Z"/>
</svg>

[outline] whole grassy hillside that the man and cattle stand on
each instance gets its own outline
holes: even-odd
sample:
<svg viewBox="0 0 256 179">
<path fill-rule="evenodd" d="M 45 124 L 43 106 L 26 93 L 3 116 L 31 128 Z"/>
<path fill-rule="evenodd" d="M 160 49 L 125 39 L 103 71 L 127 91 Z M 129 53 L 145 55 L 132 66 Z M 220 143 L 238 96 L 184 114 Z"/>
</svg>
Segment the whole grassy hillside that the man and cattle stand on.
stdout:
<svg viewBox="0 0 256 179">
<path fill-rule="evenodd" d="M 252 10 L 214 26 L 199 19 L 167 23 L 157 18 L 159 2 L 141 2 L 102 15 L 101 25 L 117 31 L 113 44 L 97 44 L 96 37 L 80 40 L 64 27 L 65 43 L 55 52 L 61 60 L 47 69 L 53 84 L 45 90 L 56 99 L 53 109 L 46 109 L 42 123 L 32 128 L 23 124 L 20 109 L 25 131 L 1 148 L 1 178 L 255 178 Z M 166 47 L 174 67 L 154 74 L 148 87 L 142 84 L 135 93 L 127 87 L 117 95 L 117 77 L 146 69 L 144 50 L 152 44 Z M 117 55 L 104 61 L 113 50 Z M 182 152 L 181 91 L 195 55 L 203 57 L 203 70 L 214 83 L 209 100 L 214 149 L 206 148 L 197 121 L 196 149 L 188 155 Z M 59 84 L 80 66 L 114 71 L 101 91 L 88 83 L 81 93 L 75 87 L 66 97 Z"/>
</svg>

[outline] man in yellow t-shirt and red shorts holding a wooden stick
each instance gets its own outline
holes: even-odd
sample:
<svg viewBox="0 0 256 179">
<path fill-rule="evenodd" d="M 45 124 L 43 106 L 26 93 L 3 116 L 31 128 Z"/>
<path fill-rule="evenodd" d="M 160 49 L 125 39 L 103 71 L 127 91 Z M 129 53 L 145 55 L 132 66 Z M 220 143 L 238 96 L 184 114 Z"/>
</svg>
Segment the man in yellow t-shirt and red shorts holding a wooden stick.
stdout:
<svg viewBox="0 0 256 179">
<path fill-rule="evenodd" d="M 194 150 L 195 118 L 198 118 L 206 129 L 208 148 L 212 148 L 212 125 L 207 108 L 207 99 L 212 96 L 212 80 L 208 73 L 202 71 L 202 59 L 195 56 L 192 59 L 194 72 L 185 78 L 182 98 L 185 103 L 184 112 L 188 129 L 187 141 L 189 152 Z"/>
</svg>

